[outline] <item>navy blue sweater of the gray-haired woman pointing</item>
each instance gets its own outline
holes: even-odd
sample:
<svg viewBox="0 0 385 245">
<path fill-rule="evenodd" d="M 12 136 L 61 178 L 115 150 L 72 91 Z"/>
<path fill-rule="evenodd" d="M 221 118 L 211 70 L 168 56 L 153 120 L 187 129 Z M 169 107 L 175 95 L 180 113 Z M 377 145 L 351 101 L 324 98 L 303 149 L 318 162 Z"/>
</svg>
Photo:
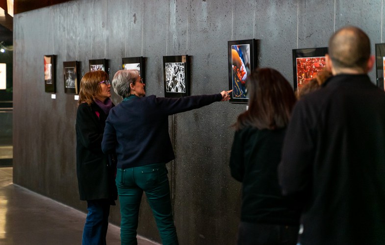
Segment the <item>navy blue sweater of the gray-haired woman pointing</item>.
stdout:
<svg viewBox="0 0 385 245">
<path fill-rule="evenodd" d="M 221 94 L 183 98 L 133 97 L 109 112 L 102 149 L 116 152 L 118 169 L 167 163 L 175 158 L 168 133 L 168 116 L 209 105 Z"/>
</svg>

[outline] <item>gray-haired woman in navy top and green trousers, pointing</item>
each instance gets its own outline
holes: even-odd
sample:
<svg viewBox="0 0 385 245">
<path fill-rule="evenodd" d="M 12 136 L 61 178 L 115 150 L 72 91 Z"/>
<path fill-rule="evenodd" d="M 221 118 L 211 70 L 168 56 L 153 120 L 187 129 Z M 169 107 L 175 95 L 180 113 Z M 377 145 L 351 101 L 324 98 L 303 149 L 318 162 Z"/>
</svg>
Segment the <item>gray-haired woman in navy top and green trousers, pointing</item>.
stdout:
<svg viewBox="0 0 385 245">
<path fill-rule="evenodd" d="M 137 70 L 118 71 L 112 86 L 123 101 L 106 120 L 102 149 L 117 154 L 116 185 L 120 200 L 121 240 L 137 244 L 139 206 L 143 191 L 164 245 L 178 244 L 165 164 L 175 158 L 168 116 L 230 99 L 230 91 L 182 98 L 145 97 Z"/>
</svg>

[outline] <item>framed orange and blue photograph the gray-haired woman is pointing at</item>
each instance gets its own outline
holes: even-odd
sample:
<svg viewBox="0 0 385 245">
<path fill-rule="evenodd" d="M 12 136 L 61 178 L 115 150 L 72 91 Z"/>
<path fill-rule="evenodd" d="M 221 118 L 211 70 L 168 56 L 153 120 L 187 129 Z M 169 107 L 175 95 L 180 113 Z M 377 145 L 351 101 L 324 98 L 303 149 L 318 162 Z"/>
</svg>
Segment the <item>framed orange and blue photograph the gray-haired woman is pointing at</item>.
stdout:
<svg viewBox="0 0 385 245">
<path fill-rule="evenodd" d="M 257 67 L 257 39 L 229 41 L 231 103 L 248 103 L 246 78 Z"/>
</svg>

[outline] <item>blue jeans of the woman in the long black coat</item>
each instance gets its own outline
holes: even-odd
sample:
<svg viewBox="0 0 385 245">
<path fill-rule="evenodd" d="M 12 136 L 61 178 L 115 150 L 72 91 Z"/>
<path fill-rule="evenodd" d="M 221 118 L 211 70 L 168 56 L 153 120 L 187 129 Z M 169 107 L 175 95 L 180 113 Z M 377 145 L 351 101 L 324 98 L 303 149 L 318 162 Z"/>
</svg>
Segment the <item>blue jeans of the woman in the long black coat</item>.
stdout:
<svg viewBox="0 0 385 245">
<path fill-rule="evenodd" d="M 87 200 L 87 218 L 83 229 L 82 245 L 105 245 L 110 212 L 110 200 Z"/>
</svg>

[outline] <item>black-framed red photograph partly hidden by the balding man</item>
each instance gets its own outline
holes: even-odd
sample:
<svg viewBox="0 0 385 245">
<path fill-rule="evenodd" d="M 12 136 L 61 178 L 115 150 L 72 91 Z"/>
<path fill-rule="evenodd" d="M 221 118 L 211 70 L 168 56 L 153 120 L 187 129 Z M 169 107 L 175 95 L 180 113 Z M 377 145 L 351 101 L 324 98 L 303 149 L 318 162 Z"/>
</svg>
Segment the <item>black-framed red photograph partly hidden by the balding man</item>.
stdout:
<svg viewBox="0 0 385 245">
<path fill-rule="evenodd" d="M 298 90 L 325 68 L 328 48 L 293 49 L 294 90 Z"/>
</svg>

